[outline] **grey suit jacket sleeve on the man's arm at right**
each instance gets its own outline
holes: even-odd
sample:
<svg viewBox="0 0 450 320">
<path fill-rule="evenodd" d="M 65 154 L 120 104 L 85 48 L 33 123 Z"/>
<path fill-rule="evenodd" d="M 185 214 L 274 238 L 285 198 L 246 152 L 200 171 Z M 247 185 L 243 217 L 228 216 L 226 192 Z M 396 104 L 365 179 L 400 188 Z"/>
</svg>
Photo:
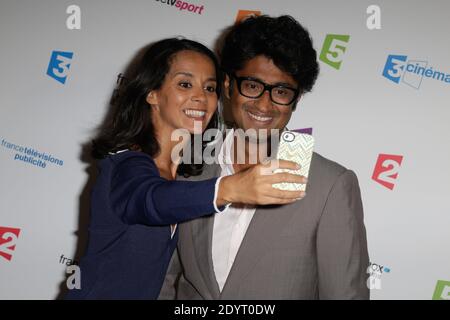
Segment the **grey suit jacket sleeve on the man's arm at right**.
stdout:
<svg viewBox="0 0 450 320">
<path fill-rule="evenodd" d="M 358 179 L 347 170 L 328 195 L 317 231 L 320 299 L 369 299 L 369 266 Z"/>
</svg>

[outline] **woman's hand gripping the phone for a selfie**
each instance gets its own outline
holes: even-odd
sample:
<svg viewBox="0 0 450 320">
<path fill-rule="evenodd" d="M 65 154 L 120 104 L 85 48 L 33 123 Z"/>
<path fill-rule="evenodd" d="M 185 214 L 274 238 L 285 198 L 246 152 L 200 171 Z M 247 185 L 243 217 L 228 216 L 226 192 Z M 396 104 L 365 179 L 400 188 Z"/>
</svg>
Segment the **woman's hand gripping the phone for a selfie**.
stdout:
<svg viewBox="0 0 450 320">
<path fill-rule="evenodd" d="M 220 180 L 217 193 L 217 205 L 228 203 L 245 204 L 286 204 L 305 196 L 304 191 L 279 190 L 272 187 L 275 183 L 306 183 L 304 176 L 288 172 L 274 173 L 275 169 L 298 170 L 299 165 L 292 161 L 272 160 L 254 165 L 234 175 Z"/>
</svg>

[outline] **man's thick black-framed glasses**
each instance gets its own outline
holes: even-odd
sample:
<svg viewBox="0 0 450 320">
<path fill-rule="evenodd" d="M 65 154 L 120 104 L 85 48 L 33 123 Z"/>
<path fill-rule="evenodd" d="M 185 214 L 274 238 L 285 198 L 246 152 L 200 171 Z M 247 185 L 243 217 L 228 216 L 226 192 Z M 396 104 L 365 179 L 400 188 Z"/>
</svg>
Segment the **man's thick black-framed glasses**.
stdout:
<svg viewBox="0 0 450 320">
<path fill-rule="evenodd" d="M 267 90 L 272 102 L 287 106 L 293 103 L 299 95 L 298 89 L 284 85 L 270 85 L 252 77 L 237 77 L 235 75 L 232 77 L 236 80 L 239 93 L 247 98 L 257 99 Z"/>
</svg>

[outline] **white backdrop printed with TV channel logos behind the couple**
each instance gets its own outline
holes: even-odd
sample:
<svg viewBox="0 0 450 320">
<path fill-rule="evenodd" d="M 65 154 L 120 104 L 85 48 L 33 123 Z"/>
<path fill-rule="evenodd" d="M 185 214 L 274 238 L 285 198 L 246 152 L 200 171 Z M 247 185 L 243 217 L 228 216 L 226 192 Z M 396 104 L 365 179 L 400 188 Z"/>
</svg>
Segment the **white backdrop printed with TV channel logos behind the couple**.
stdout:
<svg viewBox="0 0 450 320">
<path fill-rule="evenodd" d="M 445 297 L 450 1 L 164 2 L 0 1 L 0 299 L 53 299 L 65 285 L 86 234 L 92 179 L 81 148 L 117 74 L 164 37 L 212 47 L 239 10 L 290 14 L 324 51 L 289 128 L 312 128 L 316 151 L 358 175 L 370 260 L 383 266 L 374 266 L 372 299 L 431 299 L 436 288 Z M 370 5 L 381 28 L 367 25 L 377 18 Z M 68 53 L 51 60 L 54 51 Z"/>
</svg>

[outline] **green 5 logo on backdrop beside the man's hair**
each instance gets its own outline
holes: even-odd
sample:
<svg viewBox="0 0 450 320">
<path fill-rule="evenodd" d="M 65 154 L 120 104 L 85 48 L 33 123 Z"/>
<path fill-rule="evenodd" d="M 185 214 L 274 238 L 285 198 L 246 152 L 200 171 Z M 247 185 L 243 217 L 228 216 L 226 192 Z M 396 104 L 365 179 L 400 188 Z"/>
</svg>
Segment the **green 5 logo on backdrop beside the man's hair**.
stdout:
<svg viewBox="0 0 450 320">
<path fill-rule="evenodd" d="M 339 70 L 349 40 L 349 35 L 327 34 L 323 42 L 319 60 Z"/>
</svg>

